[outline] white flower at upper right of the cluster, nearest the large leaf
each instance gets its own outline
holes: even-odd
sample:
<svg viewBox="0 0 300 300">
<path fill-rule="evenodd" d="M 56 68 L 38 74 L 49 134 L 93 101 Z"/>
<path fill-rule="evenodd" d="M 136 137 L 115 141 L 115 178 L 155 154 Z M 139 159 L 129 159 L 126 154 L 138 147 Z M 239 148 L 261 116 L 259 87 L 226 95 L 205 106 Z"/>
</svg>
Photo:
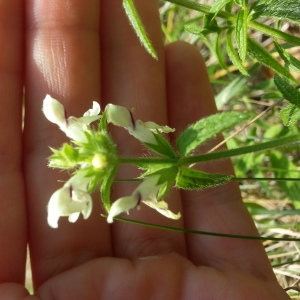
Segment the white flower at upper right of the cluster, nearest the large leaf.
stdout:
<svg viewBox="0 0 300 300">
<path fill-rule="evenodd" d="M 128 132 L 142 143 L 157 144 L 154 134 L 173 132 L 169 126 L 160 126 L 154 122 L 135 121 L 129 110 L 123 106 L 108 104 L 105 108 L 107 122 L 124 127 Z"/>
</svg>

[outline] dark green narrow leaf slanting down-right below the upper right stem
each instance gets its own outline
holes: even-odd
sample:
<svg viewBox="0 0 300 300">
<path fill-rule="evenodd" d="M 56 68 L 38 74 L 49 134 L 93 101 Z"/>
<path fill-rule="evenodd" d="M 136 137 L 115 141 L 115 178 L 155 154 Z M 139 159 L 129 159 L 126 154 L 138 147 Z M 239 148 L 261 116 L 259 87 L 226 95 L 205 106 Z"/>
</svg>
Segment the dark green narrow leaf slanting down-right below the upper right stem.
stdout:
<svg viewBox="0 0 300 300">
<path fill-rule="evenodd" d="M 290 72 L 283 67 L 266 49 L 250 38 L 248 38 L 248 54 L 253 59 L 256 59 L 259 63 L 273 69 L 276 73 L 279 73 L 292 81 L 296 81 Z"/>
</svg>

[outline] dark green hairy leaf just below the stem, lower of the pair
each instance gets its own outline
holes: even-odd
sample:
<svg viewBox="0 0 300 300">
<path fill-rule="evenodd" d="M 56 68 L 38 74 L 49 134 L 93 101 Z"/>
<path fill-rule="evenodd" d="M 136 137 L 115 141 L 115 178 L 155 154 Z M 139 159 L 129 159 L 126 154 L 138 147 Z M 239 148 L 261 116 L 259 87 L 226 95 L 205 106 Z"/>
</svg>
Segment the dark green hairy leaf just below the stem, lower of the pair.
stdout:
<svg viewBox="0 0 300 300">
<path fill-rule="evenodd" d="M 231 178 L 231 175 L 210 174 L 182 167 L 176 177 L 176 186 L 185 190 L 202 190 L 224 184 Z"/>
</svg>

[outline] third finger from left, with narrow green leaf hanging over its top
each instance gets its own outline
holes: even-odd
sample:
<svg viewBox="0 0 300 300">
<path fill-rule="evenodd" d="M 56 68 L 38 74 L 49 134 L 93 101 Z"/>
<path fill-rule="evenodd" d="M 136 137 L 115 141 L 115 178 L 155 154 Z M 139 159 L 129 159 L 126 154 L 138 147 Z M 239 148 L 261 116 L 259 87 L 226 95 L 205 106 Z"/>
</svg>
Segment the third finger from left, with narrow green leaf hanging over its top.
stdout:
<svg viewBox="0 0 300 300">
<path fill-rule="evenodd" d="M 140 45 L 118 1 L 102 2 L 102 98 L 106 102 L 135 108 L 134 117 L 143 121 L 167 124 L 164 50 L 156 1 L 135 1 L 147 33 L 158 53 L 155 61 Z M 109 12 L 109 14 L 107 13 Z M 114 128 L 112 128 L 113 130 Z M 143 155 L 140 144 L 123 129 L 113 131 L 118 151 L 123 156 Z M 143 149 L 145 153 L 145 149 Z M 135 178 L 138 173 L 125 166 L 120 177 Z M 129 196 L 135 186 L 118 184 L 113 199 Z M 170 209 L 180 211 L 178 193 L 171 196 Z M 140 210 L 131 210 L 129 218 L 162 225 L 179 225 L 141 204 Z M 113 224 L 114 252 L 122 257 L 155 255 L 161 252 L 184 252 L 183 236 L 170 231 L 138 227 L 125 223 Z"/>
</svg>

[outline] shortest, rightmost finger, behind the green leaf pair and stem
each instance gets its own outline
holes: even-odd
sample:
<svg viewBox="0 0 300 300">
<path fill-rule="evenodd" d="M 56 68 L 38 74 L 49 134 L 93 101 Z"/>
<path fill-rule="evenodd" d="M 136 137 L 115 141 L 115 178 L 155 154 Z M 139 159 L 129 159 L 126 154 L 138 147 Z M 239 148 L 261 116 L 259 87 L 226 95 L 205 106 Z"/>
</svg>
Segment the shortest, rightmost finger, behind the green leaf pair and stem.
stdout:
<svg viewBox="0 0 300 300">
<path fill-rule="evenodd" d="M 191 124 L 216 113 L 212 89 L 205 64 L 196 48 L 176 43 L 167 48 L 167 74 L 170 124 L 184 129 L 183 120 Z M 178 71 L 180 70 L 180 72 Z M 178 88 L 181 87 L 181 88 Z M 182 88 L 184 87 L 184 88 Z M 216 141 L 213 141 L 217 143 Z M 210 149 L 208 143 L 201 151 Z M 211 173 L 233 174 L 229 160 L 200 165 Z M 201 192 L 182 192 L 186 228 L 228 234 L 257 235 L 254 223 L 245 209 L 238 186 L 231 182 Z M 260 242 L 219 237 L 188 235 L 189 257 L 196 264 L 238 265 L 261 273 L 270 273 L 269 263 Z"/>
</svg>

